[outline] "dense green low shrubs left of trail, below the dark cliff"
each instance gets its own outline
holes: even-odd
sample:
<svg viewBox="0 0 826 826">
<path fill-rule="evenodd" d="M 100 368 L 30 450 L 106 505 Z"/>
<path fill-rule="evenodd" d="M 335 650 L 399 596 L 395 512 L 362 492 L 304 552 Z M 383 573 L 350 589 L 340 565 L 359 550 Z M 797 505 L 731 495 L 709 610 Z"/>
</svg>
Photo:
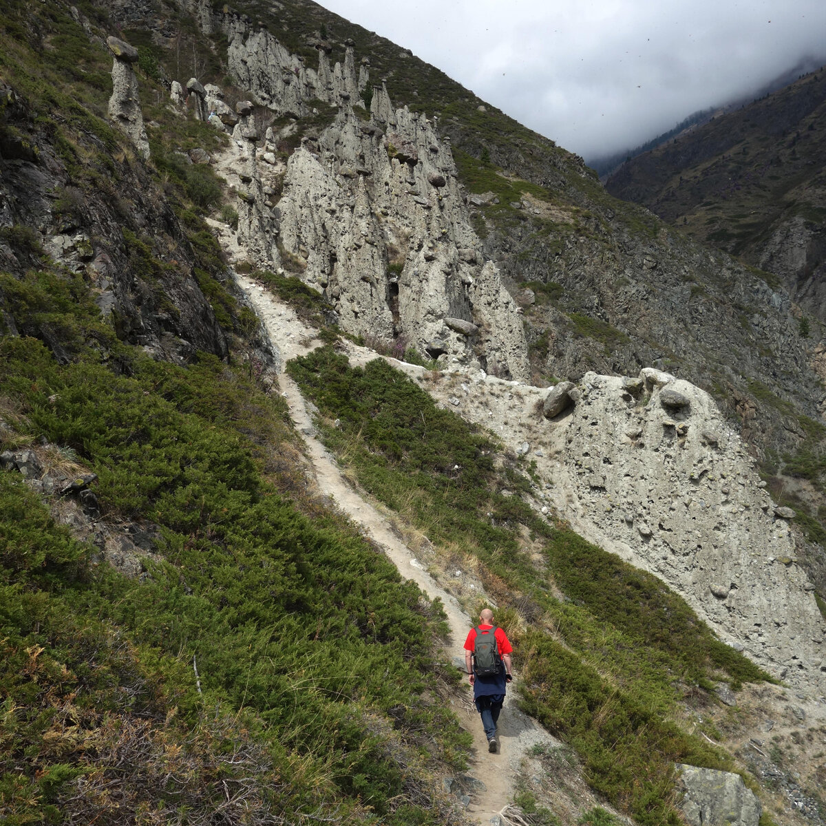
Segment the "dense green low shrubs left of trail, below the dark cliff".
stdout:
<svg viewBox="0 0 826 826">
<path fill-rule="evenodd" d="M 0 365 L 5 392 L 14 394 L 31 428 L 74 449 L 97 472 L 107 518 L 149 518 L 161 531 L 162 561 L 150 566 L 145 582 L 127 581 L 107 566 L 93 569 L 88 548 L 50 527 L 45 510 L 38 521 L 31 494 L 21 500 L 25 489 L 9 488 L 7 474 L 0 474 L 3 524 L 17 525 L 0 544 L 5 583 L 12 596 L 23 593 L 26 577 L 31 583 L 25 603 L 0 600 L 0 619 L 4 610 L 12 612 L 7 619 L 17 623 L 14 639 L 27 640 L 12 641 L 19 656 L 35 639 L 56 651 L 52 628 L 74 634 L 73 624 L 45 621 L 53 609 L 81 621 L 93 618 L 90 644 L 98 648 L 104 627 L 118 629 L 139 659 L 151 663 L 169 708 L 178 708 L 182 737 L 200 725 L 203 709 L 220 704 L 234 718 L 246 710 L 265 750 L 300 757 L 304 773 L 291 792 L 297 810 L 317 808 L 314 789 L 324 786 L 345 808 L 358 797 L 392 822 L 391 801 L 404 799 L 410 784 L 420 782 L 409 768 L 420 731 L 440 757 L 460 760 L 466 735 L 425 695 L 431 647 L 444 631 L 439 605 L 420 601 L 415 586 L 401 582 L 392 564 L 341 520 L 317 509 L 301 515 L 263 480 L 250 435 L 273 427 L 271 401 L 251 385 L 228 386 L 227 368 L 216 358 L 176 368 L 134 354 L 129 375 L 116 376 L 94 359 L 60 367 L 33 339 L 3 339 Z M 251 413 L 256 406 L 263 410 Z M 270 435 L 261 444 L 275 443 Z M 59 596 L 48 590 L 53 587 Z M 0 631 L 8 643 L 12 636 Z M 59 662 L 67 662 L 68 655 L 61 656 L 50 654 L 57 672 Z M 0 680 L 21 672 L 18 661 L 17 655 L 4 657 L 12 671 L 4 664 Z M 52 660 L 42 662 L 52 668 Z M 71 659 L 70 669 L 88 667 L 80 653 Z M 94 701 L 111 701 L 106 698 L 117 697 L 121 684 L 116 678 Z M 39 691 L 31 680 L 26 685 Z M 22 700 L 23 688 L 14 691 Z M 391 709 L 394 727 L 377 723 Z M 159 732 L 164 714 L 155 724 Z M 83 754 L 69 750 L 65 769 L 49 767 L 42 739 L 24 736 L 19 726 L 0 733 L 18 748 L 25 740 L 33 756 L 23 785 L 8 793 L 28 795 L 41 814 L 52 805 L 49 795 L 59 808 L 68 805 L 70 780 L 88 765 Z M 389 750 L 388 738 L 394 742 Z M 217 741 L 204 748 L 215 750 L 204 759 L 221 753 Z M 291 758 L 278 759 L 286 761 L 283 776 L 291 777 Z M 192 794 L 211 776 L 205 770 Z M 154 789 L 146 779 L 135 781 L 146 794 Z M 257 782 L 263 784 L 263 775 Z M 45 790 L 50 784 L 54 789 Z M 258 793 L 268 794 L 263 786 Z M 211 799 L 202 798 L 203 805 Z M 415 805 L 411 813 L 424 823 L 439 817 Z"/>
</svg>

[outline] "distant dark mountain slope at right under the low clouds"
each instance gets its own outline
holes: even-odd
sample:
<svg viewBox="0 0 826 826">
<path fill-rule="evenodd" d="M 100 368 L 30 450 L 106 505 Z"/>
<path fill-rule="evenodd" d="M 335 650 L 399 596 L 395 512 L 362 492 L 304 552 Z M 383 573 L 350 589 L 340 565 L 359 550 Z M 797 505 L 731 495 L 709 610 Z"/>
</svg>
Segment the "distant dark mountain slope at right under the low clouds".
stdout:
<svg viewBox="0 0 826 826">
<path fill-rule="evenodd" d="M 634 158 L 606 188 L 775 273 L 823 322 L 824 130 L 819 69 Z"/>
</svg>

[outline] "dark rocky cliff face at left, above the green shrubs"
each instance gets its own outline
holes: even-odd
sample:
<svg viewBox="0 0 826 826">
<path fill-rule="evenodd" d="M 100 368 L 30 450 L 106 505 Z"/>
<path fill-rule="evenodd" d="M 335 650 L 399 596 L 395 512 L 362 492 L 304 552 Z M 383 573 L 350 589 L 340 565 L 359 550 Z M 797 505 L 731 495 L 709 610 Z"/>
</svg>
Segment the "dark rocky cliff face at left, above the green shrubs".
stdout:
<svg viewBox="0 0 826 826">
<path fill-rule="evenodd" d="M 116 59 L 118 71 L 131 72 L 131 67 L 118 69 L 121 63 Z M 67 149 L 72 145 L 66 136 L 63 144 L 55 145 L 48 122 L 33 122 L 45 112 L 32 110 L 12 89 L 0 94 L 6 102 L 0 127 L 5 134 L 27 135 L 21 150 L 6 145 L 0 154 L 0 227 L 7 230 L 0 240 L 0 266 L 22 276 L 48 254 L 93 284 L 102 316 L 121 340 L 173 360 L 187 361 L 197 350 L 224 358 L 225 335 L 195 278 L 192 248 L 143 164 L 128 157 L 116 166 L 107 161 L 112 164 L 109 177 L 82 189 L 73 177 L 78 172 L 67 169 L 73 150 Z M 134 112 L 131 117 L 131 130 L 140 124 L 137 132 L 129 133 L 133 140 L 135 135 L 140 138 L 143 126 Z M 96 153 L 102 144 L 89 131 L 79 131 L 71 140 L 77 140 L 78 152 Z M 104 140 L 114 147 L 111 136 L 104 135 Z M 143 142 L 138 144 L 143 154 Z M 36 229 L 21 235 L 15 231 L 21 227 Z M 68 358 L 46 320 L 39 332 L 17 330 L 10 323 L 16 334 L 40 335 L 45 330 L 57 358 Z"/>
</svg>

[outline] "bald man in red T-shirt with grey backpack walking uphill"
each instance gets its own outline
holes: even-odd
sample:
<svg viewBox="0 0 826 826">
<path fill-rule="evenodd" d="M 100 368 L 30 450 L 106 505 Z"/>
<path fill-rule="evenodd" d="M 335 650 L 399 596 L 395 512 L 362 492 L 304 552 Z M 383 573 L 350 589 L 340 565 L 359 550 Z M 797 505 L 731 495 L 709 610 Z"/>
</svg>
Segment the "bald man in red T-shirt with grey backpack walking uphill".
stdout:
<svg viewBox="0 0 826 826">
<path fill-rule="evenodd" d="M 473 702 L 479 714 L 482 714 L 487 750 L 495 753 L 496 721 L 502 703 L 505 702 L 505 686 L 513 679 L 510 676 L 510 652 L 513 648 L 505 632 L 493 624 L 493 611 L 490 608 L 482 610 L 479 624 L 470 629 L 464 648 L 465 668 L 473 686 Z M 484 673 L 490 671 L 492 673 Z"/>
</svg>

